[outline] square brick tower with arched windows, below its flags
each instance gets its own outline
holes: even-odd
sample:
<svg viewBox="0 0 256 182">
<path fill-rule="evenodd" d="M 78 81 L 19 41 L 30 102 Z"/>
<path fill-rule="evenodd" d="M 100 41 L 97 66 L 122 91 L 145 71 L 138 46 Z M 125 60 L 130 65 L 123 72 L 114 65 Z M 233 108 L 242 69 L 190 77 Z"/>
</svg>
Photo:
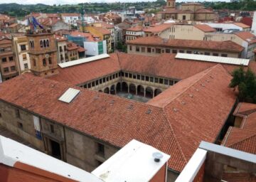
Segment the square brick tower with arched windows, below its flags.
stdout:
<svg viewBox="0 0 256 182">
<path fill-rule="evenodd" d="M 57 48 L 50 31 L 26 34 L 28 38 L 31 72 L 46 77 L 58 73 Z"/>
</svg>

